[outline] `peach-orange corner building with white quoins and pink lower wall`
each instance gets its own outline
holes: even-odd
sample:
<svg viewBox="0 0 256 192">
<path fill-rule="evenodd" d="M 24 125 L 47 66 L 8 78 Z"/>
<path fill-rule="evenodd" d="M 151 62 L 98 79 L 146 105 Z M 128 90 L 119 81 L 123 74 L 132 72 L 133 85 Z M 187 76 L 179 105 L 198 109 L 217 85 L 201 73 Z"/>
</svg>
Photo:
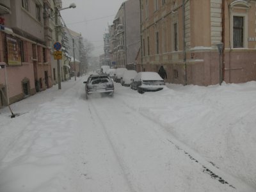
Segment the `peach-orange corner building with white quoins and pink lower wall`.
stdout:
<svg viewBox="0 0 256 192">
<path fill-rule="evenodd" d="M 256 80 L 256 6 L 244 0 L 140 0 L 138 69 L 207 86 Z"/>
</svg>

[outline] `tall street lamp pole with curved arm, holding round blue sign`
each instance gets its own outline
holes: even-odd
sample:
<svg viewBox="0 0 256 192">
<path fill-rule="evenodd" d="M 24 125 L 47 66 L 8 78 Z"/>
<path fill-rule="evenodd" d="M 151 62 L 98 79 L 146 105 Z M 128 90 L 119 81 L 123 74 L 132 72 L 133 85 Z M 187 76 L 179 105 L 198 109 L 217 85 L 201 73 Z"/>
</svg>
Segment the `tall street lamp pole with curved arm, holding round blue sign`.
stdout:
<svg viewBox="0 0 256 192">
<path fill-rule="evenodd" d="M 59 41 L 59 33 L 58 33 L 58 13 L 60 10 L 66 10 L 68 8 L 76 8 L 76 4 L 71 3 L 70 6 L 66 8 L 61 8 L 58 9 L 57 6 L 55 6 L 55 37 L 56 37 L 56 42 Z M 60 80 L 60 60 L 57 60 L 57 72 L 58 72 L 58 88 L 61 90 L 61 80 Z"/>
</svg>

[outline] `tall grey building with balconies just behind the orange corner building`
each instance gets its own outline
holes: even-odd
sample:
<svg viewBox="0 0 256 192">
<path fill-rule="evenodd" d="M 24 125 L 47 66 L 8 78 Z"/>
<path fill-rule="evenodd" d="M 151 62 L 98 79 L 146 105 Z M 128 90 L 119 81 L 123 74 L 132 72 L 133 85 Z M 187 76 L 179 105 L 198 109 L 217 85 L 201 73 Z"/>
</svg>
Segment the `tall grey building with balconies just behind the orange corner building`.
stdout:
<svg viewBox="0 0 256 192">
<path fill-rule="evenodd" d="M 115 67 L 134 68 L 140 49 L 140 2 L 122 3 L 109 28 L 109 53 Z"/>
</svg>

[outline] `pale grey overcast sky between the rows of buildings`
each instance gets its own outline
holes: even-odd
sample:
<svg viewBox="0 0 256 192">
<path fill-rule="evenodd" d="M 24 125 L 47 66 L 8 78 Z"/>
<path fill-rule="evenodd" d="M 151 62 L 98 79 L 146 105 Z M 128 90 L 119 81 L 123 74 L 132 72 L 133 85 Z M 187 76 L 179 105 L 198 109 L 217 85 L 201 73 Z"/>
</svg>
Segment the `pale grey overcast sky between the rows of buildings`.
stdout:
<svg viewBox="0 0 256 192">
<path fill-rule="evenodd" d="M 76 8 L 61 10 L 69 29 L 81 33 L 94 45 L 94 56 L 104 53 L 103 34 L 112 24 L 124 0 L 62 0 L 63 8 L 75 3 Z"/>
</svg>

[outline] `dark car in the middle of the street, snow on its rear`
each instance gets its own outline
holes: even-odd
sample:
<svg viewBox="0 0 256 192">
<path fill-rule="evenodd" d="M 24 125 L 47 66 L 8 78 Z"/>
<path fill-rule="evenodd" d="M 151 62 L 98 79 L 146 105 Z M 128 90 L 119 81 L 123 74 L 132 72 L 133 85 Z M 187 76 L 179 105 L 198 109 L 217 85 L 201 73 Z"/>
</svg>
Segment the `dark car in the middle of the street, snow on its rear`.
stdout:
<svg viewBox="0 0 256 192">
<path fill-rule="evenodd" d="M 108 93 L 113 95 L 114 84 L 108 75 L 91 75 L 85 83 L 86 99 L 92 93 Z"/>
</svg>

